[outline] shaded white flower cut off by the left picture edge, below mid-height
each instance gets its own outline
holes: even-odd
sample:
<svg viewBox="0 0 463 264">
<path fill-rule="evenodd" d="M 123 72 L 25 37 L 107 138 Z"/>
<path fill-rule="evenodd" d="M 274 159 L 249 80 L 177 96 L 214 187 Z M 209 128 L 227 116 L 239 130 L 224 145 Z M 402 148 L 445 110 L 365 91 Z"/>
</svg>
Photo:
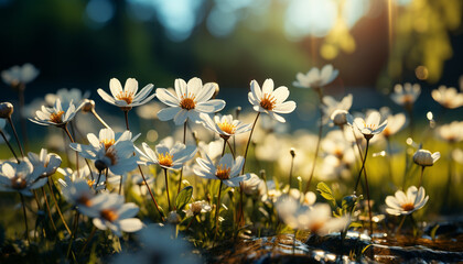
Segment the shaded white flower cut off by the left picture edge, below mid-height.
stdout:
<svg viewBox="0 0 463 264">
<path fill-rule="evenodd" d="M 18 191 L 32 196 L 31 190 L 42 187 L 47 178 L 40 178 L 45 168 L 36 167 L 28 160 L 21 163 L 4 162 L 0 166 L 0 191 Z"/>
</svg>

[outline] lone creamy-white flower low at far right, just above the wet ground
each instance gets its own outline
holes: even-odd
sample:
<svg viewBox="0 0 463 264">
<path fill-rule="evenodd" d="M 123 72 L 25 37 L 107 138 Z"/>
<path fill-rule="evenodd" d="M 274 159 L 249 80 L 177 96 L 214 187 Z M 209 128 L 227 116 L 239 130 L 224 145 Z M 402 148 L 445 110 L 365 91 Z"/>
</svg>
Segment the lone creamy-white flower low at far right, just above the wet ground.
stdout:
<svg viewBox="0 0 463 264">
<path fill-rule="evenodd" d="M 424 188 L 417 189 L 410 186 L 407 194 L 397 190 L 395 196 L 386 197 L 386 211 L 392 216 L 408 216 L 418 209 L 421 209 L 428 202 L 429 196 L 426 196 Z"/>
</svg>

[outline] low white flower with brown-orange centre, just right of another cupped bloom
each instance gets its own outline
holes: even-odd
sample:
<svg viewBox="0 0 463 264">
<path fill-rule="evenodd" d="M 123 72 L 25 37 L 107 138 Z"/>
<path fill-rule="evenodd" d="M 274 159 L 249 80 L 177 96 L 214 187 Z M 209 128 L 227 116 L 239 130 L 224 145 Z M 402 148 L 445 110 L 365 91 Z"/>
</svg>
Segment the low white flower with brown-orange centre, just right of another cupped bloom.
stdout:
<svg viewBox="0 0 463 264">
<path fill-rule="evenodd" d="M 206 158 L 197 157 L 196 163 L 200 165 L 194 169 L 197 176 L 208 179 L 219 179 L 229 187 L 238 187 L 240 182 L 250 178 L 249 174 L 239 175 L 245 163 L 243 156 L 238 156 L 235 161 L 232 154 L 225 154 L 217 166 L 214 165 L 208 156 Z"/>
</svg>

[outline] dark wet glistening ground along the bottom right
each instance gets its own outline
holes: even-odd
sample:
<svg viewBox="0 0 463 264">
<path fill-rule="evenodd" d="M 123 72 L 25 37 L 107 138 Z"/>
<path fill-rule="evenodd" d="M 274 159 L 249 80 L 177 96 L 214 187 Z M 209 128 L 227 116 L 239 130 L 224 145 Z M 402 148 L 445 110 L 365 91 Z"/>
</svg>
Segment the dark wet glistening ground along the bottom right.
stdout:
<svg viewBox="0 0 463 264">
<path fill-rule="evenodd" d="M 432 228 L 421 237 L 377 232 L 373 239 L 348 232 L 324 238 L 299 232 L 247 238 L 220 244 L 211 251 L 211 263 L 463 263 L 463 222 L 440 223 L 434 239 Z"/>
</svg>

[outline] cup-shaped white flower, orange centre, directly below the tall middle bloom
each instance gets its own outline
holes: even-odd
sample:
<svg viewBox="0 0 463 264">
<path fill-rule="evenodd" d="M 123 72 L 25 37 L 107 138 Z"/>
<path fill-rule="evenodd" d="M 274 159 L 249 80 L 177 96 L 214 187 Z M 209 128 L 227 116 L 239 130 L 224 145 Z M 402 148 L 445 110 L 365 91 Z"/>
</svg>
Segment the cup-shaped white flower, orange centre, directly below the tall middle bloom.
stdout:
<svg viewBox="0 0 463 264">
<path fill-rule="evenodd" d="M 158 164 L 166 169 L 181 169 L 183 164 L 194 157 L 197 152 L 196 146 L 177 142 L 173 146 L 160 143 L 155 146 L 155 152 L 147 144 L 142 143 L 144 153 L 137 148 L 140 153 L 140 164 L 151 165 Z"/>
</svg>

